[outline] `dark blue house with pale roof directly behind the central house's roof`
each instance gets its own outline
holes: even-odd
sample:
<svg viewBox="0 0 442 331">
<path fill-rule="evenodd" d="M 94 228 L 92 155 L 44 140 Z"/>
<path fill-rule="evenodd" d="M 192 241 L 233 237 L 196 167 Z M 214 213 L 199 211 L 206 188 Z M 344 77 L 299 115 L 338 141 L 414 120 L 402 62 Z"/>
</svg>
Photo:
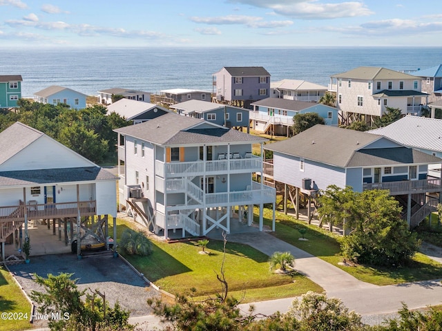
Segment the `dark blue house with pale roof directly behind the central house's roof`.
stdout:
<svg viewBox="0 0 442 331">
<path fill-rule="evenodd" d="M 172 109 L 184 116 L 201 118 L 207 122 L 228 128 L 247 128 L 249 133 L 249 109 L 201 100 L 189 100 L 174 104 Z"/>
</svg>

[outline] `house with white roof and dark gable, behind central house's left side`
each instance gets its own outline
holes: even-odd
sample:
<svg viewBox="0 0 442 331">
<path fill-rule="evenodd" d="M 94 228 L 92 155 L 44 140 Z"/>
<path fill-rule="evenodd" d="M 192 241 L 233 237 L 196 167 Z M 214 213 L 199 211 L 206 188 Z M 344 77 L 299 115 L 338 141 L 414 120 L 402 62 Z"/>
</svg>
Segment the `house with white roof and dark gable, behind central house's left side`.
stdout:
<svg viewBox="0 0 442 331">
<path fill-rule="evenodd" d="M 142 102 L 131 99 L 120 99 L 113 104 L 108 105 L 107 115 L 116 113 L 121 117 L 124 117 L 128 122 L 132 124 L 139 124 L 152 120 L 155 117 L 170 113 L 170 111 L 157 104 L 151 104 L 150 102 Z"/>
</svg>

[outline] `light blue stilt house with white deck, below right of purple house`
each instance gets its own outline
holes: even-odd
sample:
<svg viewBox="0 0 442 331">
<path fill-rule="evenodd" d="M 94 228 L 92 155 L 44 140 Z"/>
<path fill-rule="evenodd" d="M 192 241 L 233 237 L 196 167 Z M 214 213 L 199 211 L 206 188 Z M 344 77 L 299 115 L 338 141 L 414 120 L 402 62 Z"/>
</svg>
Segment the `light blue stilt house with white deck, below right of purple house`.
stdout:
<svg viewBox="0 0 442 331">
<path fill-rule="evenodd" d="M 251 104 L 251 128 L 262 133 L 291 135 L 293 117 L 296 114 L 317 113 L 325 124 L 338 126 L 338 109 L 325 104 L 269 97 Z"/>
</svg>

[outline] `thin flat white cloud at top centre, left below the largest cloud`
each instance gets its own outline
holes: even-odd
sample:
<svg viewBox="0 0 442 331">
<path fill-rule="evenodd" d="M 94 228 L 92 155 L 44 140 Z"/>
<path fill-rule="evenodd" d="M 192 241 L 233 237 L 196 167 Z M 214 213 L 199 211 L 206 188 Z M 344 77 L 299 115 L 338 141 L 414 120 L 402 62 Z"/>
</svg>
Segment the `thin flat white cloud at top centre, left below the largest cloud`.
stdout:
<svg viewBox="0 0 442 331">
<path fill-rule="evenodd" d="M 292 21 L 262 21 L 262 17 L 244 16 L 244 15 L 227 15 L 219 17 L 191 17 L 191 21 L 195 23 L 231 25 L 239 24 L 249 26 L 249 28 L 279 28 L 281 26 L 289 26 Z"/>
</svg>

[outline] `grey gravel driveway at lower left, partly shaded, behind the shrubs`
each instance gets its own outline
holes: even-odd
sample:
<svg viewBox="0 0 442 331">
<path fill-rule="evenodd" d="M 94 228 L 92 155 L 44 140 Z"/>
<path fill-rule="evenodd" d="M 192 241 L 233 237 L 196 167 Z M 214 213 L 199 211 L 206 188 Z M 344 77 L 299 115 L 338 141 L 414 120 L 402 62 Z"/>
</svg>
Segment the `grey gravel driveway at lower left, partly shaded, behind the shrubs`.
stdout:
<svg viewBox="0 0 442 331">
<path fill-rule="evenodd" d="M 118 301 L 122 308 L 131 312 L 131 317 L 151 314 L 146 300 L 160 296 L 126 263 L 120 258 L 113 258 L 112 254 L 84 256 L 81 260 L 75 254 L 34 256 L 29 264 L 10 265 L 9 268 L 28 295 L 32 290 L 42 289 L 33 281 L 34 273 L 43 277 L 62 272 L 73 273 L 72 278 L 78 278 L 79 290 L 90 288 L 104 292 L 106 302 L 111 307 Z"/>
</svg>

